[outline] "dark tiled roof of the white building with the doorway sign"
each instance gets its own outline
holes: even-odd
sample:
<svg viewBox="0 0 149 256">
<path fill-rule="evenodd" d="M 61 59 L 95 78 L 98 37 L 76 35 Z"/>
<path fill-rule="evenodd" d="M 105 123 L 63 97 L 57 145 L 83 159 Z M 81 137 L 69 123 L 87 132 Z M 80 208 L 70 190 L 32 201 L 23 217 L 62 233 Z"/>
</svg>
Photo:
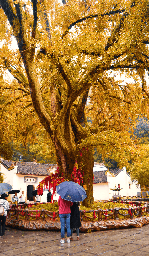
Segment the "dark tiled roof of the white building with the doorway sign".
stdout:
<svg viewBox="0 0 149 256">
<path fill-rule="evenodd" d="M 1 164 L 9 169 L 11 164 L 14 164 L 14 161 L 1 160 Z M 34 162 L 17 162 L 17 166 L 17 174 L 49 175 L 50 173 L 47 172 L 48 168 L 53 167 L 57 169 L 56 164 L 34 164 Z"/>
</svg>

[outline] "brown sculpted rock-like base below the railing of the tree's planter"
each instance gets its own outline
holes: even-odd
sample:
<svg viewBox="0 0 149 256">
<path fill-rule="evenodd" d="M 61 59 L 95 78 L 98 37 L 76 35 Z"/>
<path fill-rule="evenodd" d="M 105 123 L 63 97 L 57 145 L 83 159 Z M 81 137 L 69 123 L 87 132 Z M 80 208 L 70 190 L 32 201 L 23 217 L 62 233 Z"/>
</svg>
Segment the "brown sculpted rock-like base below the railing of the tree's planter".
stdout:
<svg viewBox="0 0 149 256">
<path fill-rule="evenodd" d="M 81 221 L 80 232 L 88 232 L 88 230 L 110 230 L 118 228 L 141 228 L 143 225 L 149 224 L 149 216 L 143 216 L 134 219 L 107 220 L 107 221 Z M 6 219 L 6 225 L 13 228 L 24 230 L 60 230 L 60 221 L 25 221 L 24 219 L 14 220 Z"/>
</svg>

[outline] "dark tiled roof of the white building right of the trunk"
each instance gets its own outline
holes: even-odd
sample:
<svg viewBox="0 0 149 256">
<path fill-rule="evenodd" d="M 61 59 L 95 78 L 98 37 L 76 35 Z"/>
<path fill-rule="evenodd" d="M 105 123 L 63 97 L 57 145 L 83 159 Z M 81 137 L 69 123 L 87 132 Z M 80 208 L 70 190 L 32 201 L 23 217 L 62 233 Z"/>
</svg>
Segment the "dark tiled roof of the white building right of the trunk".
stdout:
<svg viewBox="0 0 149 256">
<path fill-rule="evenodd" d="M 115 176 L 117 176 L 121 171 L 124 172 L 124 170 L 122 170 L 120 168 L 109 170 L 109 172 L 113 173 Z M 107 170 L 93 172 L 94 184 L 107 182 L 107 175 L 105 175 L 105 172 L 107 172 Z"/>
</svg>

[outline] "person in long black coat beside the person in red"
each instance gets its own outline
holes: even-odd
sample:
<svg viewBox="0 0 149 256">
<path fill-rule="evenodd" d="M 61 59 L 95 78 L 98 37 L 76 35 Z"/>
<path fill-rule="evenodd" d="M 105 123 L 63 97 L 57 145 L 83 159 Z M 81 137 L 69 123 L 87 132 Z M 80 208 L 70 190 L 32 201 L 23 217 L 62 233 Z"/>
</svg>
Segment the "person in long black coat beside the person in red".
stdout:
<svg viewBox="0 0 149 256">
<path fill-rule="evenodd" d="M 73 241 L 73 237 L 72 237 L 73 229 L 76 229 L 77 241 L 79 241 L 79 228 L 81 227 L 79 207 L 80 207 L 80 202 L 75 202 L 70 207 L 70 210 L 71 210 L 71 213 L 70 213 L 70 241 Z"/>
</svg>

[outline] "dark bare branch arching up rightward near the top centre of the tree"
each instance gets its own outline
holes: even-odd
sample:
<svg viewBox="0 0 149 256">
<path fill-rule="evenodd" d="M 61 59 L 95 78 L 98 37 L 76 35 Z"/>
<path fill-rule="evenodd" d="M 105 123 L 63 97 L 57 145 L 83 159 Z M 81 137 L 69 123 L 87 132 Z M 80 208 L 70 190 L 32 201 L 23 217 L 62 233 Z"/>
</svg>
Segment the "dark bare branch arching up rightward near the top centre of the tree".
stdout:
<svg viewBox="0 0 149 256">
<path fill-rule="evenodd" d="M 66 36 L 66 34 L 69 32 L 69 30 L 75 26 L 76 24 L 84 21 L 84 20 L 88 20 L 88 19 L 92 19 L 92 18 L 96 18 L 96 17 L 100 17 L 100 16 L 106 16 L 106 15 L 112 15 L 112 14 L 115 14 L 115 13 L 121 13 L 121 12 L 124 12 L 125 10 L 117 10 L 117 11 L 111 11 L 111 12 L 107 12 L 107 13 L 103 13 L 103 14 L 94 14 L 94 15 L 90 15 L 90 16 L 87 16 L 87 17 L 84 17 L 82 19 L 79 19 L 75 22 L 73 22 L 72 24 L 70 24 L 70 26 L 67 27 L 67 29 L 65 30 L 65 32 L 62 34 L 61 36 L 61 40 Z"/>
</svg>

